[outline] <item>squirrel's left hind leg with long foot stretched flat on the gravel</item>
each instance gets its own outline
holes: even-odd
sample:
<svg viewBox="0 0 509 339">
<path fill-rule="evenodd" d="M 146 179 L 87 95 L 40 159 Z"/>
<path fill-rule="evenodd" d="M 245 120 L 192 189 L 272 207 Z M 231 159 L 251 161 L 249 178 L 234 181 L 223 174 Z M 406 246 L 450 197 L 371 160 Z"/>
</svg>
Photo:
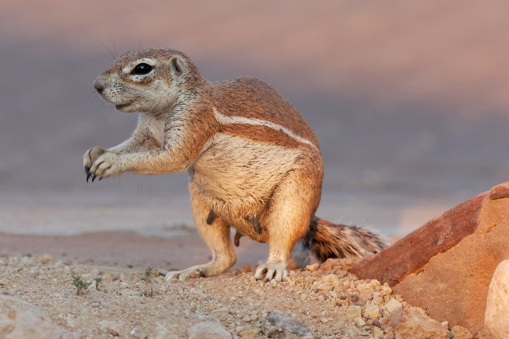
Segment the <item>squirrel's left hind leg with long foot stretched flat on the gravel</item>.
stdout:
<svg viewBox="0 0 509 339">
<path fill-rule="evenodd" d="M 196 271 L 200 272 L 200 276 L 218 275 L 232 267 L 237 261 L 230 237 L 230 226 L 219 217 L 216 217 L 210 225 L 207 225 L 210 207 L 207 206 L 193 182 L 189 183 L 189 193 L 191 195 L 191 212 L 194 223 L 202 239 L 212 252 L 212 261 L 181 271 L 168 272 L 164 278 L 167 282 L 175 278 L 178 278 L 179 281 L 185 281 L 190 278 L 192 272 Z"/>
</svg>

